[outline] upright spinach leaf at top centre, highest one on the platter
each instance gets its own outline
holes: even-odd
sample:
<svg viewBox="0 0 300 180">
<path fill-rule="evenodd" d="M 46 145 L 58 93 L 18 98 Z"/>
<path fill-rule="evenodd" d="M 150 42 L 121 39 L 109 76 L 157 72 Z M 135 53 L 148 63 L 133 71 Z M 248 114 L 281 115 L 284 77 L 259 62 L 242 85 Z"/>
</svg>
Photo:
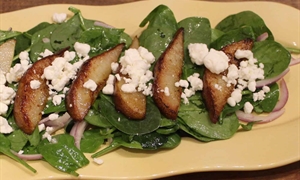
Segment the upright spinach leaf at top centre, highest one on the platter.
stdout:
<svg viewBox="0 0 300 180">
<path fill-rule="evenodd" d="M 173 35 L 178 29 L 178 24 L 171 9 L 165 5 L 159 5 L 153 9 L 140 23 L 140 27 L 146 26 L 139 37 L 140 45 L 153 53 L 155 59 L 167 48 Z"/>
</svg>

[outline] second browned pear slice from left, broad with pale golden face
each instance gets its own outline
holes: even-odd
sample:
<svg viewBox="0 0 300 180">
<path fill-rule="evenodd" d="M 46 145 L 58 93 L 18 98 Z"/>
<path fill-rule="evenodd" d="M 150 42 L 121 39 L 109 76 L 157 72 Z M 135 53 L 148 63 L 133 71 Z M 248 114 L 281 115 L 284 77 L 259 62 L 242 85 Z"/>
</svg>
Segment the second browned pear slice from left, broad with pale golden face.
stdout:
<svg viewBox="0 0 300 180">
<path fill-rule="evenodd" d="M 66 108 L 72 119 L 84 119 L 99 92 L 106 85 L 112 72 L 111 63 L 118 61 L 123 47 L 124 44 L 119 44 L 83 63 L 66 95 Z M 96 84 L 95 90 L 84 87 L 89 80 Z"/>
</svg>

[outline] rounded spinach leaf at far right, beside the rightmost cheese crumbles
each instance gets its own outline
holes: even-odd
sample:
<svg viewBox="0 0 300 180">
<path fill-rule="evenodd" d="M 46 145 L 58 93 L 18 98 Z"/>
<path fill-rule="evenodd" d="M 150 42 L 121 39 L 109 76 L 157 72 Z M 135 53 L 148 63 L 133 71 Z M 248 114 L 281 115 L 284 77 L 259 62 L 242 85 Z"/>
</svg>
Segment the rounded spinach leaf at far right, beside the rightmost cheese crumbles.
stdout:
<svg viewBox="0 0 300 180">
<path fill-rule="evenodd" d="M 255 42 L 252 52 L 258 63 L 264 64 L 265 79 L 275 77 L 289 66 L 291 54 L 272 40 Z"/>
</svg>

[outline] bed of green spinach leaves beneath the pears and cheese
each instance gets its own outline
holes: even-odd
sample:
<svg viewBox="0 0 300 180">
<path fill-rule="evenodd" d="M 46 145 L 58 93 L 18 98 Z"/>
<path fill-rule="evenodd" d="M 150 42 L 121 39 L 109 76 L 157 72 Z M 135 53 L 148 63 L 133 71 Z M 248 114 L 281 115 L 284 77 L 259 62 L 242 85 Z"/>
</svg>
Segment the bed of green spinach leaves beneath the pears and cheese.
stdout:
<svg viewBox="0 0 300 180">
<path fill-rule="evenodd" d="M 41 59 L 41 54 L 45 53 L 45 50 L 54 53 L 68 47 L 69 51 L 75 51 L 76 42 L 90 46 L 88 57 L 101 54 L 120 43 L 125 44 L 122 54 L 130 47 L 132 38 L 124 29 L 99 26 L 97 21 L 85 19 L 79 9 L 70 7 L 69 10 L 74 15 L 61 23 L 42 22 L 26 32 L 1 30 L 0 44 L 10 39 L 16 40 L 11 67 L 21 62 L 22 52 L 28 52 L 32 64 Z M 171 9 L 159 5 L 139 26 L 146 27 L 138 37 L 140 46 L 153 53 L 156 60 L 172 41 L 176 31 L 184 28 L 182 79 L 187 79 L 195 72 L 202 77 L 205 69 L 203 65 L 192 63 L 188 52 L 191 43 L 202 43 L 209 48 L 220 50 L 228 44 L 252 39 L 255 41 L 252 52 L 258 63 L 264 64 L 265 79 L 281 75 L 288 69 L 291 60 L 290 52 L 275 41 L 263 19 L 251 11 L 230 15 L 215 27 L 211 27 L 209 19 L 205 17 L 187 17 L 178 22 Z M 258 41 L 264 33 L 268 36 Z M 76 54 L 70 63 L 75 64 L 80 60 L 81 57 Z M 71 83 L 72 79 L 69 79 L 66 87 Z M 16 91 L 18 82 L 6 82 L 5 86 Z M 234 107 L 226 105 L 217 123 L 210 121 L 201 91 L 189 97 L 189 103 L 181 103 L 176 120 L 165 118 L 155 106 L 152 97 L 147 96 L 146 117 L 139 121 L 130 120 L 118 112 L 111 95 L 100 92 L 84 118 L 84 128 L 79 142 L 75 142 L 74 139 L 78 132 L 72 132 L 74 127 L 79 125 L 68 118 L 58 118 L 61 122 L 57 120 L 45 122 L 46 128 L 41 130 L 36 127 L 30 135 L 24 133 L 15 123 L 12 113 L 14 104 L 11 103 L 1 117 L 7 120 L 13 131 L 0 134 L 0 153 L 23 164 L 32 172 L 36 170 L 26 163 L 26 159 L 30 160 L 30 156 L 48 162 L 59 171 L 78 176 L 76 170 L 90 163 L 86 156 L 97 158 L 117 148 L 171 149 L 180 145 L 182 137 L 210 142 L 229 139 L 238 130 L 251 130 L 253 124 L 259 121 L 242 122 L 235 112 L 242 110 L 246 102 L 251 102 L 255 113 L 272 113 L 279 100 L 280 87 L 279 83 L 272 82 L 265 98 L 256 102 L 252 99 L 254 92 L 243 90 L 241 102 Z M 257 88 L 255 92 L 261 88 Z M 67 111 L 64 103 L 66 92 L 61 89 L 56 93 L 61 95 L 62 103 L 55 104 L 52 100 L 48 100 L 43 110 L 45 118 L 53 113 L 63 117 Z M 50 141 L 49 136 L 45 136 L 45 133 L 48 133 L 47 128 L 50 129 L 48 132 L 52 133 L 49 133 L 52 139 Z M 56 131 L 59 133 L 55 133 Z"/>
</svg>

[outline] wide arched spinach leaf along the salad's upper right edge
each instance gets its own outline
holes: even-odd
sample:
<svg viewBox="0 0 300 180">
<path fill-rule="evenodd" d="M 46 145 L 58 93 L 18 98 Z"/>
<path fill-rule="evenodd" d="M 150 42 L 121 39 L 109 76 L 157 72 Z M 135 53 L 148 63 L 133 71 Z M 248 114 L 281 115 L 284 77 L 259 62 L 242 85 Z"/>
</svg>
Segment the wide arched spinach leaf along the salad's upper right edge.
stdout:
<svg viewBox="0 0 300 180">
<path fill-rule="evenodd" d="M 226 33 L 244 26 L 251 26 L 253 28 L 255 39 L 261 34 L 267 32 L 267 39 L 274 40 L 274 36 L 265 24 L 264 20 L 252 11 L 242 11 L 237 14 L 229 15 L 216 25 L 216 29 Z"/>
</svg>

